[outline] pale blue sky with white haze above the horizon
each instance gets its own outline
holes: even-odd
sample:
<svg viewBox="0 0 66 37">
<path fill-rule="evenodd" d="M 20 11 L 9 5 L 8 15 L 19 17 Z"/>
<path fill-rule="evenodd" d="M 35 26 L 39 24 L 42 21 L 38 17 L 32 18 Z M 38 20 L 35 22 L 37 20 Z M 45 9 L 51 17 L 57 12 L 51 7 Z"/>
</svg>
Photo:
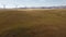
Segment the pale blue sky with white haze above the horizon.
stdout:
<svg viewBox="0 0 66 37">
<path fill-rule="evenodd" d="M 0 8 L 66 5 L 66 0 L 0 0 Z"/>
</svg>

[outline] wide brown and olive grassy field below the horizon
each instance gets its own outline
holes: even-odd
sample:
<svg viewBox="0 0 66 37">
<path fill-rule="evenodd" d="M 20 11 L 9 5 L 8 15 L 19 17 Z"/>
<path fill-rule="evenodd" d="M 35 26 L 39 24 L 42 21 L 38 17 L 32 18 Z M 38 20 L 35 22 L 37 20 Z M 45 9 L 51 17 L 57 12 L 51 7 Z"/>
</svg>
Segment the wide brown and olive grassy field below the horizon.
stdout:
<svg viewBox="0 0 66 37">
<path fill-rule="evenodd" d="M 0 10 L 0 37 L 66 37 L 66 9 Z"/>
</svg>

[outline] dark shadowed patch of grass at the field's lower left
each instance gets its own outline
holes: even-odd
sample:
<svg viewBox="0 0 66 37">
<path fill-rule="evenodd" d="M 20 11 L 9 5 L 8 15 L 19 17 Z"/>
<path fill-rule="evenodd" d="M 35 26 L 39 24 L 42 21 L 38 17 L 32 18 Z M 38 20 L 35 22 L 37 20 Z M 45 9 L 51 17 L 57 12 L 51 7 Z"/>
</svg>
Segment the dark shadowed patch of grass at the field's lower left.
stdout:
<svg viewBox="0 0 66 37">
<path fill-rule="evenodd" d="M 6 30 L 1 34 L 1 37 L 32 37 L 29 34 L 30 28 L 14 28 Z"/>
</svg>

